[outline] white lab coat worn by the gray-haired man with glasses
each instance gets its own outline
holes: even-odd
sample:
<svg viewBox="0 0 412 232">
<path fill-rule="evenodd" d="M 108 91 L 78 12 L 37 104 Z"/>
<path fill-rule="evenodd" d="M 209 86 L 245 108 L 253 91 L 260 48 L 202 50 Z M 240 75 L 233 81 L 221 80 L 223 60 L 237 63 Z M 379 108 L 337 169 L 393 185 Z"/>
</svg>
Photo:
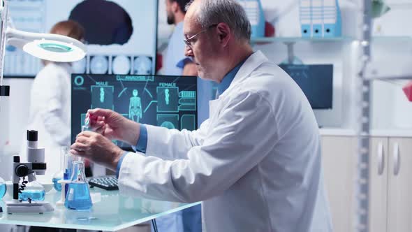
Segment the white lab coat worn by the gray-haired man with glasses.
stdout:
<svg viewBox="0 0 412 232">
<path fill-rule="evenodd" d="M 300 87 L 262 54 L 210 102 L 197 131 L 147 126 L 127 154 L 122 194 L 203 201 L 207 231 L 332 231 L 318 125 Z"/>
</svg>

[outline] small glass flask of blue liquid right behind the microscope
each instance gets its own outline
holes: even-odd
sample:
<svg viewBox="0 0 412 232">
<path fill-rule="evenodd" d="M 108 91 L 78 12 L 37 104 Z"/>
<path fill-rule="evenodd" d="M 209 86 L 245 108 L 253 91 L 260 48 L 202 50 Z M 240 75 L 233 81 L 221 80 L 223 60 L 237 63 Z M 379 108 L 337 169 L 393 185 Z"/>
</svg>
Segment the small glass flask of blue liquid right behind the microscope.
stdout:
<svg viewBox="0 0 412 232">
<path fill-rule="evenodd" d="M 36 173 L 33 173 L 34 180 L 32 182 L 28 182 L 23 179 L 20 182 L 20 191 L 19 191 L 19 200 L 21 201 L 44 201 L 46 191 L 43 185 L 36 181 Z"/>
</svg>

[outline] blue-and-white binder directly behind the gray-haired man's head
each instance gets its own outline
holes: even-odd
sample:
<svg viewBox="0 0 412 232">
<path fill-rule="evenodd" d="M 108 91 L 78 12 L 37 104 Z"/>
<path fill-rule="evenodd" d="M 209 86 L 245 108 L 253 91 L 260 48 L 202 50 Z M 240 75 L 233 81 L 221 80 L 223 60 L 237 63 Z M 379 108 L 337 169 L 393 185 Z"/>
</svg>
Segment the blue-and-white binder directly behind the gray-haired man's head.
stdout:
<svg viewBox="0 0 412 232">
<path fill-rule="evenodd" d="M 265 15 L 260 0 L 237 0 L 251 23 L 251 37 L 265 36 Z"/>
</svg>

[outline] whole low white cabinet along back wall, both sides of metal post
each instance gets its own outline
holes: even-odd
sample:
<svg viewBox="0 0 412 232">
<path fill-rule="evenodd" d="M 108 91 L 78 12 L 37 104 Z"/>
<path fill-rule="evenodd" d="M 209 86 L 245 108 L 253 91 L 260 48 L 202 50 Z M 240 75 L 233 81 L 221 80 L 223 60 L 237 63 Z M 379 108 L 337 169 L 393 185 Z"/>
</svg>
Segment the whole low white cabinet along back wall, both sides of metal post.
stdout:
<svg viewBox="0 0 412 232">
<path fill-rule="evenodd" d="M 355 136 L 322 138 L 325 187 L 335 232 L 355 231 L 356 149 Z M 371 138 L 369 175 L 369 231 L 412 231 L 412 138 Z"/>
</svg>

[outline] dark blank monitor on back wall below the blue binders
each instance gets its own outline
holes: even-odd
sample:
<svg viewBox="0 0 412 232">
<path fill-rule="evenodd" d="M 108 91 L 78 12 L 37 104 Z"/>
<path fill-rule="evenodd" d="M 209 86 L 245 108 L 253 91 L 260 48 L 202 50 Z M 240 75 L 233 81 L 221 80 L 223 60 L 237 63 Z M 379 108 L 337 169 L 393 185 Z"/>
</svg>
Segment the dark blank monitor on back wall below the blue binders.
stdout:
<svg viewBox="0 0 412 232">
<path fill-rule="evenodd" d="M 333 65 L 279 65 L 306 95 L 313 109 L 332 108 Z"/>
</svg>

